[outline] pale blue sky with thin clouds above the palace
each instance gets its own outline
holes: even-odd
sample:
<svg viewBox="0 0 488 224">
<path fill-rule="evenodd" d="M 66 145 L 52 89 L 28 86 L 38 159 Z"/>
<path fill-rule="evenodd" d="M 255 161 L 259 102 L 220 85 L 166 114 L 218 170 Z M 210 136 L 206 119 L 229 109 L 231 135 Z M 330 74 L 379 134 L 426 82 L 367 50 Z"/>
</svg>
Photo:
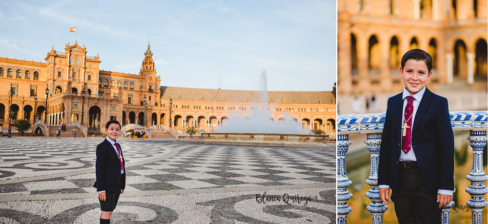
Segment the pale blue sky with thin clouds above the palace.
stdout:
<svg viewBox="0 0 488 224">
<path fill-rule="evenodd" d="M 150 39 L 161 85 L 329 91 L 335 0 L 0 1 L 0 57 L 44 61 L 85 45 L 101 70 L 138 74 Z"/>
</svg>

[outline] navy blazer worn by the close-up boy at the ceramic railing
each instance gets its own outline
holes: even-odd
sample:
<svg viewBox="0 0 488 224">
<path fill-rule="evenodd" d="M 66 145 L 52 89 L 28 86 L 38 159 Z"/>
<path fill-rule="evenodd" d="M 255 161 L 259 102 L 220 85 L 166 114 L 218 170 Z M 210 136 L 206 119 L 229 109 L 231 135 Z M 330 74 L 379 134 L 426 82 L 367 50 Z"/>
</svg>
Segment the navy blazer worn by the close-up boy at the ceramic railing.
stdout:
<svg viewBox="0 0 488 224">
<path fill-rule="evenodd" d="M 381 138 L 378 184 L 395 191 L 402 142 L 402 93 L 388 99 Z M 428 189 L 454 190 L 454 135 L 447 99 L 426 89 L 412 129 L 412 148 Z"/>
</svg>

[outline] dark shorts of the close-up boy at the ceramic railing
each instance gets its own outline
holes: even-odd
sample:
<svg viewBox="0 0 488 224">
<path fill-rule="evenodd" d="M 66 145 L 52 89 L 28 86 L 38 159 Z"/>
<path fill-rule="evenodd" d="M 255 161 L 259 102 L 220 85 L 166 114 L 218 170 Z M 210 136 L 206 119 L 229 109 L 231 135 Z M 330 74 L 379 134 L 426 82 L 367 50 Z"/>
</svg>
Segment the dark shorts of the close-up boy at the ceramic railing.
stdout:
<svg viewBox="0 0 488 224">
<path fill-rule="evenodd" d="M 399 224 L 440 224 L 442 209 L 437 192 L 428 188 L 420 169 L 399 164 L 397 189 L 391 193 Z"/>
</svg>

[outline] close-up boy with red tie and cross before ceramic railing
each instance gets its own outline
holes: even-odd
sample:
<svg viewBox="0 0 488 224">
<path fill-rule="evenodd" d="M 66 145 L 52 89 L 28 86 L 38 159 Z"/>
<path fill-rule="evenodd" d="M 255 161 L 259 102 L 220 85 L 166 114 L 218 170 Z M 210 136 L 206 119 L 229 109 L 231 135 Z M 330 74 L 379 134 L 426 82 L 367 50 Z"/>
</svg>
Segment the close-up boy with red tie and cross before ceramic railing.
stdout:
<svg viewBox="0 0 488 224">
<path fill-rule="evenodd" d="M 413 49 L 402 58 L 403 93 L 388 99 L 378 165 L 380 198 L 400 224 L 441 223 L 454 190 L 454 136 L 447 99 L 426 84 L 432 58 Z"/>
</svg>

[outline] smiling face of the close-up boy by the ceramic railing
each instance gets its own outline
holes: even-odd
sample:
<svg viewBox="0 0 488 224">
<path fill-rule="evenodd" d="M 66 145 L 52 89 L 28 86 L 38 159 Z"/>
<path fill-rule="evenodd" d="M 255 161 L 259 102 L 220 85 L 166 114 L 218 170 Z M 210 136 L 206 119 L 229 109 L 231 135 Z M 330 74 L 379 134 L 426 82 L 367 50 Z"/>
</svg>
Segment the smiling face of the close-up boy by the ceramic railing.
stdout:
<svg viewBox="0 0 488 224">
<path fill-rule="evenodd" d="M 413 96 L 426 86 L 427 80 L 432 75 L 432 71 L 428 72 L 425 61 L 409 59 L 405 62 L 403 68 L 400 67 L 400 74 L 403 78 L 403 84 L 407 87 L 410 95 Z"/>
</svg>

